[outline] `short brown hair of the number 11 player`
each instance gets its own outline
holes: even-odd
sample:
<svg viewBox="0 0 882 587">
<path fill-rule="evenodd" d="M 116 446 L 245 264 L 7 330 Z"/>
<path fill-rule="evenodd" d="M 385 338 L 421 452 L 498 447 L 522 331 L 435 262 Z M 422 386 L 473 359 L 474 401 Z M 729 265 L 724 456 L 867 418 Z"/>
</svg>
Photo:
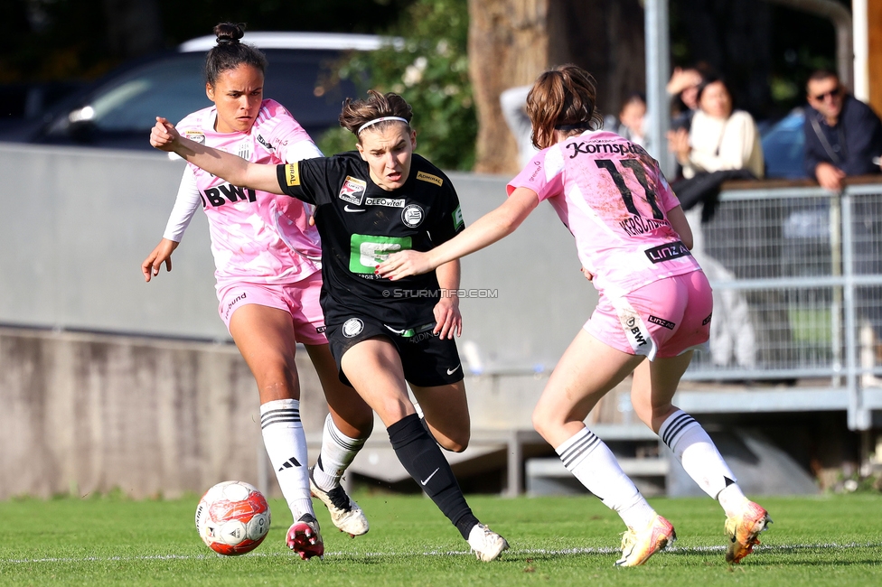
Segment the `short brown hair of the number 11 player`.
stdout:
<svg viewBox="0 0 882 587">
<path fill-rule="evenodd" d="M 596 130 L 604 124 L 597 111 L 597 82 L 577 65 L 561 65 L 541 73 L 527 95 L 533 146 L 554 144 L 554 131 Z"/>
</svg>

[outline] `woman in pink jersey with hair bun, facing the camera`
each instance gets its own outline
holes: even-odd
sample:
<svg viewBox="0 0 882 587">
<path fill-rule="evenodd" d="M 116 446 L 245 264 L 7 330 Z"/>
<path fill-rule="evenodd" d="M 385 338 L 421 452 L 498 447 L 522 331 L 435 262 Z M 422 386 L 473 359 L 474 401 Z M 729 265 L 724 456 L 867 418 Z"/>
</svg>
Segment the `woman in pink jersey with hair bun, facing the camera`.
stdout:
<svg viewBox="0 0 882 587">
<path fill-rule="evenodd" d="M 197 142 L 254 163 L 294 163 L 322 156 L 309 135 L 277 102 L 263 99 L 267 61 L 240 43 L 239 25 L 220 23 L 218 44 L 205 64 L 213 107 L 186 116 L 181 132 Z M 328 507 L 335 526 L 352 536 L 368 531 L 361 508 L 340 485 L 371 433 L 373 415 L 352 387 L 344 386 L 324 336 L 319 305 L 321 247 L 298 200 L 224 182 L 187 165 L 162 241 L 141 269 L 145 280 L 172 269 L 172 252 L 199 206 L 211 230 L 220 318 L 258 384 L 264 444 L 294 525 L 287 545 L 302 558 L 324 554 L 310 494 Z M 324 424 L 318 466 L 308 470 L 300 422 L 296 343 L 305 345 L 324 387 L 330 415 Z"/>
</svg>

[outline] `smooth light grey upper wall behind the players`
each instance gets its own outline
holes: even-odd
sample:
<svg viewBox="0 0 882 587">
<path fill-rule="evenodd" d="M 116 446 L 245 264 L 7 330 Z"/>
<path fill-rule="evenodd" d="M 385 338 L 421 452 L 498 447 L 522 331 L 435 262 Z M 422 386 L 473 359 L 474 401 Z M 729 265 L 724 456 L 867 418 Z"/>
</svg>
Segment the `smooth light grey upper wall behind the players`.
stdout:
<svg viewBox="0 0 882 587">
<path fill-rule="evenodd" d="M 146 140 L 146 137 L 145 137 Z M 0 144 L 0 323 L 229 340 L 217 314 L 205 215 L 173 271 L 141 262 L 162 238 L 183 162 L 160 153 Z M 505 198 L 505 181 L 452 173 L 466 222 Z M 464 334 L 474 371 L 547 370 L 596 304 L 576 247 L 549 206 L 463 261 Z"/>
</svg>

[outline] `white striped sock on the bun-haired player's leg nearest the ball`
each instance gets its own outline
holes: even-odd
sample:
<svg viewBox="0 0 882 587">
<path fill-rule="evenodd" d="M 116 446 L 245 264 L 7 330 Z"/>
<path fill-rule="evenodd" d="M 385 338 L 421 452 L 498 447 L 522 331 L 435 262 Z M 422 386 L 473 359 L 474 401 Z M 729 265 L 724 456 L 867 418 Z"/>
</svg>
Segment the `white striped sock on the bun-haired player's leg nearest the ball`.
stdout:
<svg viewBox="0 0 882 587">
<path fill-rule="evenodd" d="M 261 405 L 260 428 L 278 486 L 294 520 L 305 514 L 315 516 L 309 494 L 309 464 L 306 461 L 306 435 L 300 422 L 300 401 L 277 399 Z"/>
</svg>

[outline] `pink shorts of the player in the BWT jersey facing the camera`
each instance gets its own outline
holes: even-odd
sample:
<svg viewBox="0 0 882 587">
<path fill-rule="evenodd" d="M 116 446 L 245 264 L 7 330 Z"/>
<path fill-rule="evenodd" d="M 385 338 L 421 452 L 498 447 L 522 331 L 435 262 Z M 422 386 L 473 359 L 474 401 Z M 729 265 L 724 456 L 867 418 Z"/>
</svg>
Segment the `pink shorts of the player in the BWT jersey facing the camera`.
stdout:
<svg viewBox="0 0 882 587">
<path fill-rule="evenodd" d="M 324 337 L 324 312 L 318 302 L 321 291 L 321 271 L 293 284 L 224 285 L 218 290 L 218 312 L 220 320 L 227 325 L 227 331 L 230 331 L 230 318 L 243 305 L 257 303 L 284 310 L 291 314 L 297 342 L 327 344 L 328 340 Z"/>
</svg>

